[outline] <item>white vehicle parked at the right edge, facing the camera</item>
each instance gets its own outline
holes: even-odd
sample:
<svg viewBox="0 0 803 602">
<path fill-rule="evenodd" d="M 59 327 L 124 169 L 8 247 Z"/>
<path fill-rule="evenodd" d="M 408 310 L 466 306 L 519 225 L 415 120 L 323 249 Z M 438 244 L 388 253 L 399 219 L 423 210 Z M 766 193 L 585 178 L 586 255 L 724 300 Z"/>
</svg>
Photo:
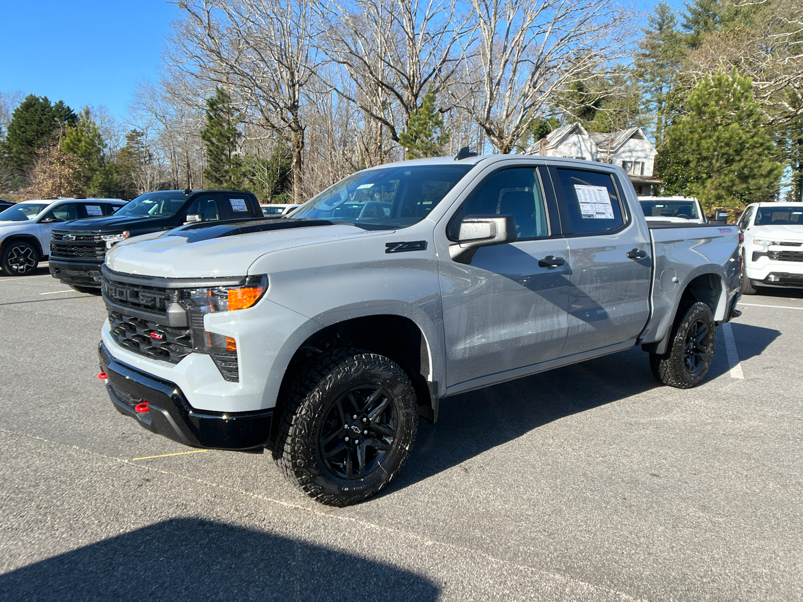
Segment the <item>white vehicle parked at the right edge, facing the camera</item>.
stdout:
<svg viewBox="0 0 803 602">
<path fill-rule="evenodd" d="M 742 293 L 803 288 L 803 203 L 753 203 L 737 223 L 744 232 Z"/>
</svg>

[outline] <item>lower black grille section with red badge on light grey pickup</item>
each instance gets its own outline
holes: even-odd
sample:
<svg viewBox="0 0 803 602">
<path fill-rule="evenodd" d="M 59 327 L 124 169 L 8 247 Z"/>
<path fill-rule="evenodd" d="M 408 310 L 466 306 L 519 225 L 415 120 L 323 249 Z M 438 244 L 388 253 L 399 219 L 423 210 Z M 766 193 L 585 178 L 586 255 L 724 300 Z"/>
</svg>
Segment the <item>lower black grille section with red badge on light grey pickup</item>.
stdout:
<svg viewBox="0 0 803 602">
<path fill-rule="evenodd" d="M 117 344 L 132 352 L 171 364 L 178 364 L 193 352 L 189 328 L 168 327 L 116 311 L 108 312 L 108 321 Z"/>
</svg>

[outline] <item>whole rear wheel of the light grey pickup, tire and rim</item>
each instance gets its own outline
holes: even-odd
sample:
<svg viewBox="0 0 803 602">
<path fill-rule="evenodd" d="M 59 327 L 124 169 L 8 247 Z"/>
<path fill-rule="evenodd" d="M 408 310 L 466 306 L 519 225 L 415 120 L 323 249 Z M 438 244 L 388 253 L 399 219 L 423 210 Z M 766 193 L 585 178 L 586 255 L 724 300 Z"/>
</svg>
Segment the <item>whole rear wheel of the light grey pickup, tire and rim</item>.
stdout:
<svg viewBox="0 0 803 602">
<path fill-rule="evenodd" d="M 650 353 L 653 376 L 671 387 L 694 387 L 711 368 L 715 346 L 711 308 L 705 303 L 682 302 L 666 353 Z"/>
</svg>

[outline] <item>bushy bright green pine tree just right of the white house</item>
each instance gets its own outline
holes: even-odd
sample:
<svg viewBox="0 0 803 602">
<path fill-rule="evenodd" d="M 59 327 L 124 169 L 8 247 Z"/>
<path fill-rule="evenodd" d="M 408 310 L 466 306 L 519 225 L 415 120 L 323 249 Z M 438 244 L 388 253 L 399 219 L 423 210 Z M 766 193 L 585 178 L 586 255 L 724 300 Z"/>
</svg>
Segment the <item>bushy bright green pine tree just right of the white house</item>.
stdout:
<svg viewBox="0 0 803 602">
<path fill-rule="evenodd" d="M 770 200 L 783 167 L 752 80 L 736 69 L 720 71 L 695 87 L 686 106 L 688 114 L 666 130 L 656 160 L 667 188 L 684 188 L 678 192 L 699 197 L 708 211 Z"/>
</svg>

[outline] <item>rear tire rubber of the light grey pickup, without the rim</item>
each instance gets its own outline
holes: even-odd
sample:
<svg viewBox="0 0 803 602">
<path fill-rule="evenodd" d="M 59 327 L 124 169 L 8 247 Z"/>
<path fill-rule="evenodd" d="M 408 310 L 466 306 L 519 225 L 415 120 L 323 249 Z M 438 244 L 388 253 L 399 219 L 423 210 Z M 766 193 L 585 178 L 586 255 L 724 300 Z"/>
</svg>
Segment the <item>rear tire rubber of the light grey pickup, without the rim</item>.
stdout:
<svg viewBox="0 0 803 602">
<path fill-rule="evenodd" d="M 691 373 L 687 368 L 687 344 L 695 324 L 707 327 L 707 351 L 699 370 Z M 716 346 L 716 324 L 711 308 L 705 303 L 682 301 L 672 325 L 671 339 L 666 353 L 650 353 L 650 369 L 653 376 L 663 384 L 676 388 L 691 388 L 703 380 L 711 368 Z"/>
</svg>

